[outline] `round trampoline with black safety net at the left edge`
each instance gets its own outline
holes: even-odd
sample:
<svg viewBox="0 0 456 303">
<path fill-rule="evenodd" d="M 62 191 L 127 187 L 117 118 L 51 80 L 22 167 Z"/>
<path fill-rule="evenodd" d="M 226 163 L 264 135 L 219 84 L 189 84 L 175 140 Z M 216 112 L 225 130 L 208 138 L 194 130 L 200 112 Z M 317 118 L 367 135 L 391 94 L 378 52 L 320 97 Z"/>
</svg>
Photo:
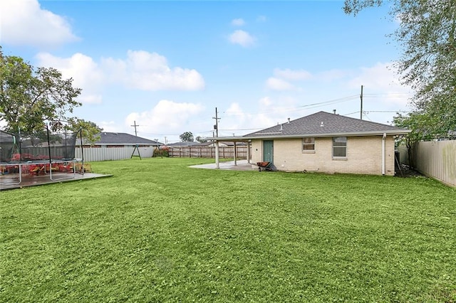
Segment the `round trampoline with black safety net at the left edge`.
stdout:
<svg viewBox="0 0 456 303">
<path fill-rule="evenodd" d="M 78 137 L 82 147 L 82 129 L 51 132 L 46 124 L 42 132 L 32 134 L 0 131 L 0 186 L 21 184 L 33 176 L 58 181 L 84 174 L 83 158 L 75 158 Z"/>
</svg>

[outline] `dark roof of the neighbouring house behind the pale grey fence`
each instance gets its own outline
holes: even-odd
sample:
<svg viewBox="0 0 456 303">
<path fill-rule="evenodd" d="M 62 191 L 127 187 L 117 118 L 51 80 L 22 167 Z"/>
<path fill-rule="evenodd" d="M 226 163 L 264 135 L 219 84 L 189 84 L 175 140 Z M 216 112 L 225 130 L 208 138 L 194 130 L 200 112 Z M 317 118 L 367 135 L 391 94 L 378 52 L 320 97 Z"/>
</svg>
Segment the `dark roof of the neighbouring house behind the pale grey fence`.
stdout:
<svg viewBox="0 0 456 303">
<path fill-rule="evenodd" d="M 136 137 L 125 132 L 100 132 L 100 137 L 94 144 L 83 140 L 84 147 L 158 147 L 162 143 L 155 140 Z M 79 144 L 79 142 L 76 142 Z"/>
</svg>

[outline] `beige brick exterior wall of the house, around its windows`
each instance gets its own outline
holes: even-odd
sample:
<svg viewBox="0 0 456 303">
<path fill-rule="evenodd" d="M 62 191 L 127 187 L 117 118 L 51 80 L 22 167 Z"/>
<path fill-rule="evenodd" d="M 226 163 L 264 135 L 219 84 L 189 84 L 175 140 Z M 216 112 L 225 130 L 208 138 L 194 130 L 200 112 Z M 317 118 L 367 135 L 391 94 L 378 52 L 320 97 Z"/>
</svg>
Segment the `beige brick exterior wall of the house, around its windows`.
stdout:
<svg viewBox="0 0 456 303">
<path fill-rule="evenodd" d="M 315 138 L 315 151 L 303 151 L 302 139 L 274 139 L 274 165 L 279 171 L 327 174 L 382 174 L 382 137 L 348 137 L 346 159 L 333 159 L 332 138 Z M 252 140 L 252 162 L 262 161 L 262 140 Z M 394 138 L 385 139 L 385 175 L 394 176 Z"/>
</svg>

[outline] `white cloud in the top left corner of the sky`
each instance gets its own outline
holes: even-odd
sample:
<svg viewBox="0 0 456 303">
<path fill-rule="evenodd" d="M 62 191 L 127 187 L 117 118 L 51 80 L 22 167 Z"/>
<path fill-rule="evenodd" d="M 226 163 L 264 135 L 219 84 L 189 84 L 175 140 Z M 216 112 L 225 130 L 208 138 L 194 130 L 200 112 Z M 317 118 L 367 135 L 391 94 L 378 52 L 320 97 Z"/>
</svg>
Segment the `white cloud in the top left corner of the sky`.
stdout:
<svg viewBox="0 0 456 303">
<path fill-rule="evenodd" d="M 0 1 L 0 43 L 57 46 L 77 41 L 68 21 L 41 9 L 37 0 Z"/>
</svg>

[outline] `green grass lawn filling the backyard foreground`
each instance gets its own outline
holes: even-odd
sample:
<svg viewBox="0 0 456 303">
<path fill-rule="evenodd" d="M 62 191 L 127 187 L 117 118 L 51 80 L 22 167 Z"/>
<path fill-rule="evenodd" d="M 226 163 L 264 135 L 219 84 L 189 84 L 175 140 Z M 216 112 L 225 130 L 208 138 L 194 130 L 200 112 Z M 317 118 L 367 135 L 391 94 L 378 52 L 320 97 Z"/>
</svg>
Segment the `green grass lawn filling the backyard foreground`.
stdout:
<svg viewBox="0 0 456 303">
<path fill-rule="evenodd" d="M 456 189 L 93 162 L 0 193 L 0 302 L 456 302 Z"/>
</svg>

